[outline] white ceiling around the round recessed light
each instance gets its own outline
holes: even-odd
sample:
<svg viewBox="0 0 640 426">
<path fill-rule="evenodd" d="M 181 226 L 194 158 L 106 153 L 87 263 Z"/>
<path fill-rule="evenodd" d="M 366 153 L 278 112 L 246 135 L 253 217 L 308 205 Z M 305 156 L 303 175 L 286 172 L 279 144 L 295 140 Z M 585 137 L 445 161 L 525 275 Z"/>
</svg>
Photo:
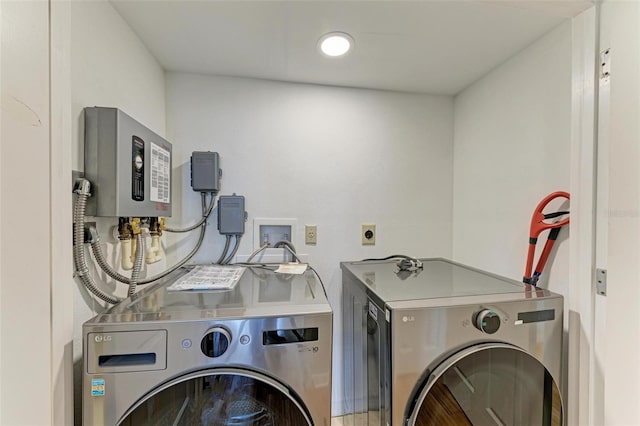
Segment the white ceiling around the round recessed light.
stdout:
<svg viewBox="0 0 640 426">
<path fill-rule="evenodd" d="M 573 0 L 111 0 L 170 71 L 455 94 L 592 6 Z M 344 58 L 317 41 L 355 39 Z"/>
</svg>

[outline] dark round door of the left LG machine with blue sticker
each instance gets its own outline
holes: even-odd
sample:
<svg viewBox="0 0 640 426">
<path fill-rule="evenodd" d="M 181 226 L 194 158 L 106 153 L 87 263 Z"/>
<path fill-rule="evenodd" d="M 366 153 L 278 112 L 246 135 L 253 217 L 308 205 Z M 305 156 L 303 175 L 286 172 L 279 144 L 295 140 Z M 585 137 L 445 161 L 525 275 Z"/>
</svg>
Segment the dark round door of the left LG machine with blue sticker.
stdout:
<svg viewBox="0 0 640 426">
<path fill-rule="evenodd" d="M 119 425 L 301 426 L 309 416 L 279 382 L 247 370 L 198 371 L 145 395 Z"/>
</svg>

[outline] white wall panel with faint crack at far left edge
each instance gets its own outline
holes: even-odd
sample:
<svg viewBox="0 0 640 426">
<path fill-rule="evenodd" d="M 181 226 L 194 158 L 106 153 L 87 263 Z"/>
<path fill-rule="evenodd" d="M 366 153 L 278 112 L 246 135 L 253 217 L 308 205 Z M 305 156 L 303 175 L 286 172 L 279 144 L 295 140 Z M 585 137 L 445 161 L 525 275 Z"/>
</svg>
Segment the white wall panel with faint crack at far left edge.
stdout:
<svg viewBox="0 0 640 426">
<path fill-rule="evenodd" d="M 0 2 L 0 41 L 0 424 L 46 425 L 54 250 L 48 4 Z"/>
</svg>

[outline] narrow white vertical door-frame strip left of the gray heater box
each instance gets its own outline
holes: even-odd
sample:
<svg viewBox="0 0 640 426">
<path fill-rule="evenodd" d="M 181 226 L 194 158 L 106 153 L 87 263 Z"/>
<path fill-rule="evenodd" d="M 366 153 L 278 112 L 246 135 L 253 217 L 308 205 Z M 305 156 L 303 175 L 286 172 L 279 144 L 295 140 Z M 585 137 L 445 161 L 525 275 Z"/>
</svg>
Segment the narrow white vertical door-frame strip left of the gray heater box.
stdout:
<svg viewBox="0 0 640 426">
<path fill-rule="evenodd" d="M 73 424 L 73 262 L 71 126 L 71 5 L 66 0 L 49 4 L 51 81 L 51 424 Z"/>
</svg>

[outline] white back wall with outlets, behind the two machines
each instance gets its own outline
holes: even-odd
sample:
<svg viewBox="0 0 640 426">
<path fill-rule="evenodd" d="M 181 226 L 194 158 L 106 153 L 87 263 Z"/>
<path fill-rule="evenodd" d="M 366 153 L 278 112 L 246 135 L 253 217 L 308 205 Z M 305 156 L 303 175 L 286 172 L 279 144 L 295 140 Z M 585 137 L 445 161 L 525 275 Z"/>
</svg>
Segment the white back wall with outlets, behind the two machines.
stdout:
<svg viewBox="0 0 640 426">
<path fill-rule="evenodd" d="M 246 197 L 252 220 L 295 218 L 318 226 L 318 244 L 299 243 L 327 287 L 334 319 L 334 414 L 342 405 L 339 262 L 394 253 L 451 256 L 453 108 L 450 97 L 189 74 L 167 76 L 167 134 L 174 165 L 192 151 L 221 156 L 221 194 Z M 199 198 L 182 173 L 183 210 Z M 175 173 L 179 175 L 179 173 Z M 175 189 L 175 186 L 174 186 Z M 186 219 L 185 219 L 186 220 Z M 196 260 L 215 261 L 215 220 Z M 377 225 L 375 246 L 360 227 Z"/>
</svg>

